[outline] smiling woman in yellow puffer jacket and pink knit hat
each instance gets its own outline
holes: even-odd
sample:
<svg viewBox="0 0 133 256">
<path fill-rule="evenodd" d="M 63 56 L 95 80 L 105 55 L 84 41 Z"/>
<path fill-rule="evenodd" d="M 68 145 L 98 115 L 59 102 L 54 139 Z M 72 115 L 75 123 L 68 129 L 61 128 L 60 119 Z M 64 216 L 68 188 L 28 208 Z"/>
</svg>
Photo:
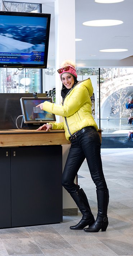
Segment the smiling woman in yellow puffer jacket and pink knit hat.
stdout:
<svg viewBox="0 0 133 256">
<path fill-rule="evenodd" d="M 74 64 L 70 61 L 64 62 L 58 72 L 63 82 L 61 89 L 62 105 L 45 101 L 37 107 L 62 116 L 63 122 L 44 124 L 37 130 L 64 129 L 66 138 L 71 142 L 64 167 L 62 185 L 70 193 L 83 216 L 81 221 L 75 226 L 70 226 L 70 229 L 82 230 L 84 228 L 86 232 L 106 231 L 109 191 L 102 171 L 101 142 L 97 133 L 98 127 L 91 113 L 92 83 L 90 78 L 78 82 Z M 80 189 L 79 185 L 74 184 L 75 176 L 85 158 L 92 180 L 96 185 L 98 206 L 96 221 L 86 194 L 82 188 Z M 87 225 L 88 228 L 85 228 Z"/>
</svg>

